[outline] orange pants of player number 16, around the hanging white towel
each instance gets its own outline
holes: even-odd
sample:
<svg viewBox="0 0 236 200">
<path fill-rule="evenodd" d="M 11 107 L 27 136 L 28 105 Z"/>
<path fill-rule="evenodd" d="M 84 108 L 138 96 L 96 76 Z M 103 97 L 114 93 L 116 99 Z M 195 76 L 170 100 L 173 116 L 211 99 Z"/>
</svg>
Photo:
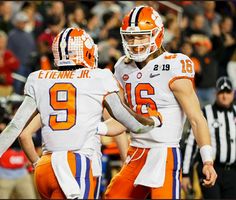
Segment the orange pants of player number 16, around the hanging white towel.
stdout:
<svg viewBox="0 0 236 200">
<path fill-rule="evenodd" d="M 179 199 L 181 173 L 181 153 L 179 148 L 168 148 L 164 185 L 150 188 L 134 186 L 134 181 L 145 164 L 149 149 L 130 147 L 128 157 L 121 171 L 111 180 L 105 192 L 105 199 L 144 199 L 150 194 L 152 199 Z"/>
</svg>

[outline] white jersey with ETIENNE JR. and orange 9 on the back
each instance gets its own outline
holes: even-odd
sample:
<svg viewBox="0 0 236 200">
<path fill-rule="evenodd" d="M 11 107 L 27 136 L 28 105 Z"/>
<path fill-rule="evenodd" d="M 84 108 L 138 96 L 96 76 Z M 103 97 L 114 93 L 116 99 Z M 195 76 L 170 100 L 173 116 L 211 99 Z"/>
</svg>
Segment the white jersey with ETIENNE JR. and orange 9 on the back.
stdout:
<svg viewBox="0 0 236 200">
<path fill-rule="evenodd" d="M 35 99 L 42 120 L 46 151 L 100 148 L 95 135 L 103 112 L 103 99 L 119 91 L 107 69 L 40 70 L 30 74 L 25 95 Z"/>
</svg>

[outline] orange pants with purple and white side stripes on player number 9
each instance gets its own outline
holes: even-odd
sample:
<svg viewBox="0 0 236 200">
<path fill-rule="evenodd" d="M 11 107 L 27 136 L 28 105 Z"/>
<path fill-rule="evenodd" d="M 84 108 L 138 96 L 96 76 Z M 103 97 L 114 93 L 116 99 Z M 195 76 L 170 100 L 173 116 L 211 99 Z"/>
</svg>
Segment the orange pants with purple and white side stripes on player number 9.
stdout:
<svg viewBox="0 0 236 200">
<path fill-rule="evenodd" d="M 72 152 L 68 152 L 67 160 L 81 188 L 83 199 L 93 199 L 96 179 L 92 175 L 91 161 L 86 158 L 86 163 L 82 163 L 80 154 Z M 85 178 L 80 177 L 82 170 Z M 35 169 L 35 183 L 42 199 L 66 199 L 54 175 L 51 154 L 43 155 L 39 160 Z"/>
</svg>

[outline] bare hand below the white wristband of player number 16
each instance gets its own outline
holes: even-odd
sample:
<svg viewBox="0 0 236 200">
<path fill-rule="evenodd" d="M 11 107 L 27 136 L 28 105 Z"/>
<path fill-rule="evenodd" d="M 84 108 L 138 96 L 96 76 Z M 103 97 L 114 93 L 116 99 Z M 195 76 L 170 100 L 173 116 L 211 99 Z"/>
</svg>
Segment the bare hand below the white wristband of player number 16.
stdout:
<svg viewBox="0 0 236 200">
<path fill-rule="evenodd" d="M 215 185 L 217 174 L 213 167 L 212 162 L 205 162 L 203 164 L 202 173 L 206 176 L 205 179 L 203 179 L 202 185 L 205 187 L 212 187 Z"/>
</svg>

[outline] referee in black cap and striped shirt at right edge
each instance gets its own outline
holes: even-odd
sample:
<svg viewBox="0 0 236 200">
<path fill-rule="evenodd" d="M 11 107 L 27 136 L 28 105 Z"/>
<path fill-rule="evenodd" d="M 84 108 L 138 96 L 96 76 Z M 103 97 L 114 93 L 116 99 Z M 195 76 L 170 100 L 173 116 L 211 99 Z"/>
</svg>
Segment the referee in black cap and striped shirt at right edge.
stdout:
<svg viewBox="0 0 236 200">
<path fill-rule="evenodd" d="M 204 198 L 236 199 L 236 105 L 232 82 L 228 77 L 220 77 L 216 82 L 216 101 L 213 105 L 206 105 L 203 114 L 208 122 L 213 147 L 214 167 L 218 178 L 211 188 L 201 184 Z M 194 140 L 193 132 L 187 139 L 183 159 L 182 187 L 185 192 L 192 188 L 190 171 L 199 160 L 199 148 Z M 202 162 L 198 162 L 197 172 L 201 180 Z"/>
</svg>

